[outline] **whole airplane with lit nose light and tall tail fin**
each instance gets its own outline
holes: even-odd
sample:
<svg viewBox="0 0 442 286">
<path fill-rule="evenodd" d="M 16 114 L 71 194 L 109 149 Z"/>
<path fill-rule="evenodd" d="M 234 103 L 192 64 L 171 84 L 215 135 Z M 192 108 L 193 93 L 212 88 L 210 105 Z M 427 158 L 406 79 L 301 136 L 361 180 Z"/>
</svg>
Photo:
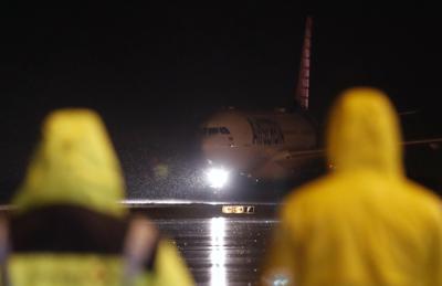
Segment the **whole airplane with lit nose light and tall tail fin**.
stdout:
<svg viewBox="0 0 442 286">
<path fill-rule="evenodd" d="M 255 181 L 275 181 L 299 177 L 313 167 L 317 169 L 320 166 L 323 169 L 318 170 L 324 170 L 324 150 L 319 148 L 317 124 L 308 110 L 312 24 L 308 17 L 295 108 L 264 112 L 228 108 L 202 124 L 201 150 L 209 165 L 206 176 L 210 187 L 224 188 L 232 173 Z M 404 145 L 441 140 L 414 140 Z"/>
</svg>

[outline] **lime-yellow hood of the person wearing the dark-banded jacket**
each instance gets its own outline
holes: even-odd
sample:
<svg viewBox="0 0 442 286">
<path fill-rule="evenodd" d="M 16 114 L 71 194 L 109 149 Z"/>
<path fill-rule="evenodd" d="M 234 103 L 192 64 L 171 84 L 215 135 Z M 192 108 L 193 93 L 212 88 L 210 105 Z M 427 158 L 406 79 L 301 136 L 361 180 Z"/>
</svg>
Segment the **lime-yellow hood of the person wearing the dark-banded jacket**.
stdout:
<svg viewBox="0 0 442 286">
<path fill-rule="evenodd" d="M 88 109 L 50 114 L 13 204 L 18 211 L 74 204 L 120 216 L 124 180 L 99 116 Z"/>
</svg>

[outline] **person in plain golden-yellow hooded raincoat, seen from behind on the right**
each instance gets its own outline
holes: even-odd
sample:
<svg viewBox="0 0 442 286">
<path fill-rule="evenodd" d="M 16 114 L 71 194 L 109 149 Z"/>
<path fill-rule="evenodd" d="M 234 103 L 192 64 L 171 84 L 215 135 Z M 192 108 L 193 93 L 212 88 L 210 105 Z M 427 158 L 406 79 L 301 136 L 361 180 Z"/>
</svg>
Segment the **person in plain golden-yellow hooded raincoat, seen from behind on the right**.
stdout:
<svg viewBox="0 0 442 286">
<path fill-rule="evenodd" d="M 263 285 L 440 286 L 440 199 L 406 178 L 387 95 L 351 88 L 334 105 L 328 174 L 292 192 Z"/>
</svg>

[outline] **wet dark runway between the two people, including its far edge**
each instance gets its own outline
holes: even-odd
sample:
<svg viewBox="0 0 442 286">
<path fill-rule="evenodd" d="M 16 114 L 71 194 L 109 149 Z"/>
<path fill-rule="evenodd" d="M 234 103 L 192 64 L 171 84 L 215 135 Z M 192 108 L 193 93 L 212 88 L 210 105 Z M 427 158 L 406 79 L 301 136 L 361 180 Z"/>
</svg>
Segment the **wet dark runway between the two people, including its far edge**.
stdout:
<svg viewBox="0 0 442 286">
<path fill-rule="evenodd" d="M 197 285 L 257 285 L 262 258 L 277 224 L 275 204 L 248 204 L 254 213 L 227 214 L 224 204 L 131 208 L 154 219 L 183 255 Z"/>
</svg>

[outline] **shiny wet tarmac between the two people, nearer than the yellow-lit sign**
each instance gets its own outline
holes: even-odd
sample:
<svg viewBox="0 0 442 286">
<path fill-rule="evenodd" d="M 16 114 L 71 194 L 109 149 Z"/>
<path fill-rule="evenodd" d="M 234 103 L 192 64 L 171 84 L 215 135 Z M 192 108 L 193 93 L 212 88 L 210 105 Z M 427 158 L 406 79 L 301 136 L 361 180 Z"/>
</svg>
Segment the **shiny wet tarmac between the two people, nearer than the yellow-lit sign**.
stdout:
<svg viewBox="0 0 442 286">
<path fill-rule="evenodd" d="M 182 253 L 197 285 L 257 285 L 277 221 L 246 218 L 155 220 Z"/>
</svg>

